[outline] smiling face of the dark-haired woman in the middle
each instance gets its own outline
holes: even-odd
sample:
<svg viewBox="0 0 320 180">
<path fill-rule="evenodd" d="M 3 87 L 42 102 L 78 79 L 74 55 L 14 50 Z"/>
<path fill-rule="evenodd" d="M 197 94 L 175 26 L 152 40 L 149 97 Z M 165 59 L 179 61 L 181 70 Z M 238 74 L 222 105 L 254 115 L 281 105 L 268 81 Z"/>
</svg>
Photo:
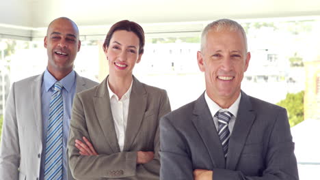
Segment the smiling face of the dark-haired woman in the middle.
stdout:
<svg viewBox="0 0 320 180">
<path fill-rule="evenodd" d="M 111 37 L 109 47 L 105 48 L 105 55 L 109 61 L 109 76 L 131 78 L 135 63 L 139 63 L 139 37 L 131 31 L 115 31 Z"/>
</svg>

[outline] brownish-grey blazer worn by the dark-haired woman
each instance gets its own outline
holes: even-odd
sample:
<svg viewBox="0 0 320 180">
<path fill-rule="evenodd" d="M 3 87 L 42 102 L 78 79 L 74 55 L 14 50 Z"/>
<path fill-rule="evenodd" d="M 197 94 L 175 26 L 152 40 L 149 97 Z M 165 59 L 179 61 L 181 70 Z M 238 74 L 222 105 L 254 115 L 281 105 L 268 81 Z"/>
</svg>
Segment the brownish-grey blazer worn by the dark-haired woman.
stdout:
<svg viewBox="0 0 320 180">
<path fill-rule="evenodd" d="M 170 112 L 168 95 L 133 77 L 124 149 L 120 151 L 111 114 L 107 78 L 75 97 L 68 142 L 75 179 L 159 179 L 159 119 Z M 87 137 L 99 155 L 80 155 L 75 139 Z M 147 164 L 136 164 L 137 151 L 154 151 Z"/>
</svg>

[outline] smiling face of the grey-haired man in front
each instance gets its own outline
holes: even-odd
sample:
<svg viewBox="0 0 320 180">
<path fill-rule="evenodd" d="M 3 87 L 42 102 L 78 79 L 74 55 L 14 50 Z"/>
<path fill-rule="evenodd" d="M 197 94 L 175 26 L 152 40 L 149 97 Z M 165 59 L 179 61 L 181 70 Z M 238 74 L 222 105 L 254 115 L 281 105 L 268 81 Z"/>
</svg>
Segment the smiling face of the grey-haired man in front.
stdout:
<svg viewBox="0 0 320 180">
<path fill-rule="evenodd" d="M 211 100 L 222 108 L 229 108 L 237 100 L 249 61 L 250 52 L 245 50 L 240 31 L 208 31 L 204 49 L 198 52 L 198 65 Z"/>
</svg>

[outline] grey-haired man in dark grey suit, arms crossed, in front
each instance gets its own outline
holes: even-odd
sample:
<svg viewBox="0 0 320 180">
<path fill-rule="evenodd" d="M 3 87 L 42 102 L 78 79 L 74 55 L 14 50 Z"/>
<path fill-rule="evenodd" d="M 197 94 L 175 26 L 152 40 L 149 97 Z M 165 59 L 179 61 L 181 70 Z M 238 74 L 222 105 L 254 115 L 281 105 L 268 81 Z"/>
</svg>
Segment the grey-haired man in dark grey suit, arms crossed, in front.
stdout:
<svg viewBox="0 0 320 180">
<path fill-rule="evenodd" d="M 241 25 L 206 26 L 198 51 L 206 91 L 161 119 L 161 179 L 299 179 L 286 110 L 241 91 L 249 61 Z"/>
</svg>

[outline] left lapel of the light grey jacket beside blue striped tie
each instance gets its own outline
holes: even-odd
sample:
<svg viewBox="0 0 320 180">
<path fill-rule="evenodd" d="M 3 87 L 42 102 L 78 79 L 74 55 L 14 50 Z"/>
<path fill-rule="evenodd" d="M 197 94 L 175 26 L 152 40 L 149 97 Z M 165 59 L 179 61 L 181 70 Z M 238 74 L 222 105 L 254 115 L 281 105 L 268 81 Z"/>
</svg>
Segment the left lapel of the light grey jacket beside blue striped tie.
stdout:
<svg viewBox="0 0 320 180">
<path fill-rule="evenodd" d="M 30 85 L 31 91 L 31 102 L 32 106 L 34 106 L 34 119 L 36 123 L 37 136 L 40 138 L 40 142 L 42 142 L 42 108 L 41 108 L 41 85 L 42 85 L 43 74 L 39 75 Z"/>
</svg>

